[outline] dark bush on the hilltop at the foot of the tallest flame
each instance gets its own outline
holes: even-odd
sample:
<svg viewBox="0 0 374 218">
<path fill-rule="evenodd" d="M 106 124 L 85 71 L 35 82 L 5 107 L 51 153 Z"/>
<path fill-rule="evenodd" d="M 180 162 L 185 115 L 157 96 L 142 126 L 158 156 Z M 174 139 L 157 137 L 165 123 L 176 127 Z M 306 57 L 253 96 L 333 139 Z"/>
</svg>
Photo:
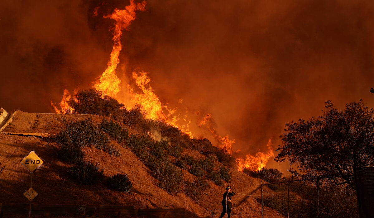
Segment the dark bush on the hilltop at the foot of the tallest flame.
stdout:
<svg viewBox="0 0 374 218">
<path fill-rule="evenodd" d="M 80 114 L 111 116 L 119 114 L 124 106 L 116 99 L 103 96 L 102 92 L 95 89 L 81 90 L 75 94 L 74 98 L 75 100 L 72 99 L 68 104 L 74 108 L 76 113 Z"/>
</svg>

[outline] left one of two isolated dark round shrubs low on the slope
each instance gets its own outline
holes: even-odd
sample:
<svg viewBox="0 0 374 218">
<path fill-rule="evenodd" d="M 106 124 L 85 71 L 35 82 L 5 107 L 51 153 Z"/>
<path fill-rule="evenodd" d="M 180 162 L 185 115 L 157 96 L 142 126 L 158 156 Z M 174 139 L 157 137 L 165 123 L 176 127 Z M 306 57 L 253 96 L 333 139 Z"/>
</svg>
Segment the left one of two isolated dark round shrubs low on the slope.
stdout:
<svg viewBox="0 0 374 218">
<path fill-rule="evenodd" d="M 76 166 L 70 169 L 70 174 L 77 179 L 80 184 L 96 184 L 102 179 L 102 172 L 99 168 L 94 166 L 91 162 L 78 162 Z"/>
</svg>

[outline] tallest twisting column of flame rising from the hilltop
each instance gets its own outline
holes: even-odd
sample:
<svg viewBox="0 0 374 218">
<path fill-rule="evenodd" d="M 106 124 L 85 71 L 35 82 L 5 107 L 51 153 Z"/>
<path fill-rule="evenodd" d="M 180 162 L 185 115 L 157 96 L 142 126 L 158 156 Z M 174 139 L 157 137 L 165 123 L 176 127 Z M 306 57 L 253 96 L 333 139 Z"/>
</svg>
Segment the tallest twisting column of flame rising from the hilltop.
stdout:
<svg viewBox="0 0 374 218">
<path fill-rule="evenodd" d="M 102 92 L 103 95 L 110 96 L 112 98 L 117 97 L 117 93 L 120 90 L 120 79 L 117 77 L 116 68 L 119 63 L 119 53 L 122 49 L 121 36 L 122 30 L 127 30 L 136 18 L 135 11 L 145 10 L 145 1 L 142 3 L 134 3 L 134 0 L 130 1 L 130 5 L 126 6 L 124 10 L 114 9 L 111 15 L 104 16 L 104 18 L 114 19 L 115 25 L 113 28 L 113 50 L 110 53 L 110 60 L 108 62 L 108 68 L 102 73 L 100 79 L 96 81 L 94 85 L 96 90 Z"/>
</svg>

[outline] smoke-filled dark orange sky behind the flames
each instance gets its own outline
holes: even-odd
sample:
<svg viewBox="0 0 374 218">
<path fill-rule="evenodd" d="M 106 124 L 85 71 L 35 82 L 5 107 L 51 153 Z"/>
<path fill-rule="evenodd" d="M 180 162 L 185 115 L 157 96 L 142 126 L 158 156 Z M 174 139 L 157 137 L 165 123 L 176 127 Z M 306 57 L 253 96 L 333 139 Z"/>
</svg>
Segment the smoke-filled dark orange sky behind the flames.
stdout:
<svg viewBox="0 0 374 218">
<path fill-rule="evenodd" d="M 92 87 L 113 47 L 113 20 L 103 16 L 128 4 L 2 0 L 0 107 L 54 113 L 50 100 L 64 89 Z M 188 114 L 194 136 L 216 143 L 196 125 L 210 113 L 234 151 L 255 154 L 327 100 L 374 107 L 373 42 L 373 1 L 147 0 L 123 32 L 116 72 L 132 85 L 133 71 L 149 72 L 154 93 Z"/>
</svg>

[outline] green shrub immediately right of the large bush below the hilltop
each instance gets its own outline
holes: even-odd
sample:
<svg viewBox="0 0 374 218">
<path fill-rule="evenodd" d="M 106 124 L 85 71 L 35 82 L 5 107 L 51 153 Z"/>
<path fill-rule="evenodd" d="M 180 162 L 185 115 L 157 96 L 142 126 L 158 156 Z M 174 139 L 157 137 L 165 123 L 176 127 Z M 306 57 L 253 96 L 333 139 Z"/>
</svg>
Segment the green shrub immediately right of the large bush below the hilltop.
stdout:
<svg viewBox="0 0 374 218">
<path fill-rule="evenodd" d="M 111 138 L 116 140 L 120 144 L 125 144 L 129 139 L 129 131 L 125 128 L 123 129 L 118 123 L 107 119 L 102 119 L 100 123 L 100 129 L 108 133 Z"/>
</svg>

